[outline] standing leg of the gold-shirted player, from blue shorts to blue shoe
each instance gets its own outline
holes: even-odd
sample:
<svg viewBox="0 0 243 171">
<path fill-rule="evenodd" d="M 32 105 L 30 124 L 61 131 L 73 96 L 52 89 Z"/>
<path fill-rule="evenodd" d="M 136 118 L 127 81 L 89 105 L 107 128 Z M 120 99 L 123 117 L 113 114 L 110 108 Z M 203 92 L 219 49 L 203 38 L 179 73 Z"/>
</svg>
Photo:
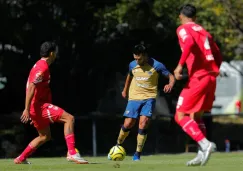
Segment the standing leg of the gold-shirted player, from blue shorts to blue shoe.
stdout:
<svg viewBox="0 0 243 171">
<path fill-rule="evenodd" d="M 147 140 L 147 129 L 150 122 L 150 118 L 152 117 L 152 113 L 154 111 L 155 102 L 155 99 L 148 99 L 144 101 L 144 104 L 142 106 L 137 135 L 137 149 L 133 156 L 134 161 L 140 160 L 144 144 Z"/>
</svg>

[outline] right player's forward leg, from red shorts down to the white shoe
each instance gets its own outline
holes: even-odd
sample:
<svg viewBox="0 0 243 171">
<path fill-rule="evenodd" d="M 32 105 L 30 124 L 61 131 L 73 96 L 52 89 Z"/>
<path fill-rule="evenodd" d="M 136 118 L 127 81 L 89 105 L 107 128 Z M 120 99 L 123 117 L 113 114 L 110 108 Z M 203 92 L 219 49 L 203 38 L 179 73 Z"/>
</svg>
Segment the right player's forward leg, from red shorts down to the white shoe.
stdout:
<svg viewBox="0 0 243 171">
<path fill-rule="evenodd" d="M 195 120 L 187 114 L 198 112 L 203 109 L 207 86 L 210 83 L 210 77 L 194 79 L 188 86 L 182 90 L 177 104 L 175 121 L 182 129 L 201 147 L 204 154 L 213 150 L 215 144 L 206 139 Z M 205 158 L 205 156 L 204 156 Z M 201 164 L 205 164 L 203 161 Z"/>
</svg>

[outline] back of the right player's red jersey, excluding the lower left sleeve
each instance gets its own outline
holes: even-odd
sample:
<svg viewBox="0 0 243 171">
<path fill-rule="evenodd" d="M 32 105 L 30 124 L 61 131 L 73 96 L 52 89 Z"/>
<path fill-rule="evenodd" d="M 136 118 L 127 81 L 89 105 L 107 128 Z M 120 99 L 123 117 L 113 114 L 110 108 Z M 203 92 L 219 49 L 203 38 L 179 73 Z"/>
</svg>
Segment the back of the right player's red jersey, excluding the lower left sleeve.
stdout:
<svg viewBox="0 0 243 171">
<path fill-rule="evenodd" d="M 200 77 L 207 74 L 219 73 L 219 66 L 215 63 L 213 52 L 215 49 L 215 42 L 209 32 L 207 32 L 202 26 L 190 22 L 181 25 L 177 29 L 180 40 L 180 45 L 183 50 L 184 40 L 187 36 L 191 36 L 194 41 L 194 45 L 191 49 L 191 53 L 186 60 L 188 73 L 190 77 Z M 216 56 L 217 57 L 217 56 Z"/>
</svg>

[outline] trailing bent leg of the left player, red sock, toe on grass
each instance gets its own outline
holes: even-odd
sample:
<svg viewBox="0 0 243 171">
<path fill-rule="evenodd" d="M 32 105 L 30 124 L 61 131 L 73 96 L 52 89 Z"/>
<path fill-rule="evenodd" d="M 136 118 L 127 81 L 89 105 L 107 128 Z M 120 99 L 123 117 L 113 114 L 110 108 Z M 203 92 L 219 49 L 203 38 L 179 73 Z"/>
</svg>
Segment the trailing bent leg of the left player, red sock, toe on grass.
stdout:
<svg viewBox="0 0 243 171">
<path fill-rule="evenodd" d="M 14 159 L 15 164 L 30 164 L 26 159 L 33 153 L 35 150 L 40 147 L 45 142 L 51 139 L 50 127 L 47 126 L 43 129 L 37 130 L 39 136 L 33 139 L 25 150 L 20 154 L 19 157 Z"/>
</svg>

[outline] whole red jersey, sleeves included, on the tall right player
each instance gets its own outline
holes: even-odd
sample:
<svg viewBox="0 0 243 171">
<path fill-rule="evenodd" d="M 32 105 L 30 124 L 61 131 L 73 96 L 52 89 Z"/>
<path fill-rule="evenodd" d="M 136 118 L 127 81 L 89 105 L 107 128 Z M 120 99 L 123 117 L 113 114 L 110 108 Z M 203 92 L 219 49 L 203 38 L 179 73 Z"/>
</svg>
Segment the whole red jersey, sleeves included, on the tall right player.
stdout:
<svg viewBox="0 0 243 171">
<path fill-rule="evenodd" d="M 182 50 L 179 64 L 186 63 L 189 78 L 219 74 L 222 56 L 209 32 L 189 22 L 177 28 L 177 36 Z"/>
</svg>

